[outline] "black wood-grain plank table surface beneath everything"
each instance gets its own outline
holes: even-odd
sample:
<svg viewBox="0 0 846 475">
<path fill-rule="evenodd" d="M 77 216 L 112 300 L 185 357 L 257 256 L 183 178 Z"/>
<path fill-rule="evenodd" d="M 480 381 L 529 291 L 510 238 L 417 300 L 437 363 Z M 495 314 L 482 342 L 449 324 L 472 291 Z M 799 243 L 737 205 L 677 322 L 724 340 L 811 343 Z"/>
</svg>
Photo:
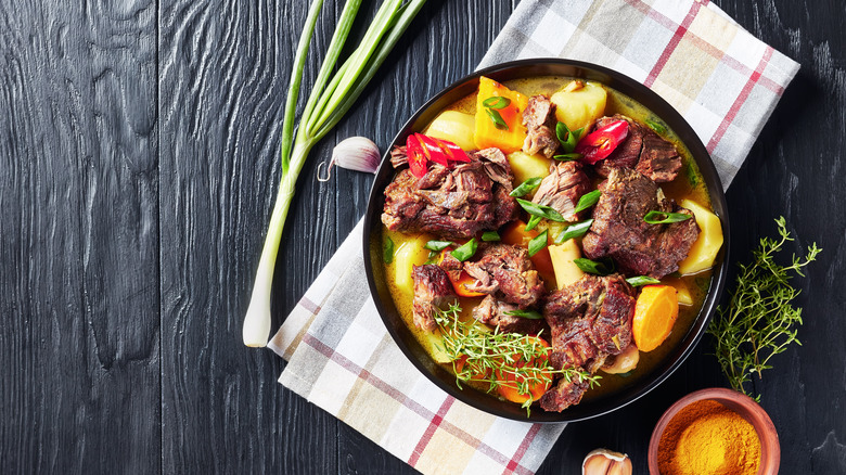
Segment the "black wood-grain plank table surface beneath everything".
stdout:
<svg viewBox="0 0 846 475">
<path fill-rule="evenodd" d="M 349 136 L 384 147 L 475 67 L 515 3 L 430 0 L 312 152 L 283 236 L 274 328 L 363 214 L 372 181 L 339 170 L 319 183 L 317 164 Z M 782 473 L 846 473 L 846 4 L 717 3 L 802 63 L 729 190 L 731 259 L 747 260 L 779 215 L 796 248 L 824 248 L 797 281 L 804 345 L 756 390 Z M 241 343 L 306 7 L 0 2 L 0 472 L 413 472 L 277 384 L 283 361 Z M 375 8 L 364 1 L 357 35 Z M 332 23 L 318 24 L 316 51 Z M 571 424 L 540 473 L 578 473 L 597 447 L 644 473 L 661 413 L 726 385 L 709 351 L 706 338 L 649 397 Z"/>
</svg>

